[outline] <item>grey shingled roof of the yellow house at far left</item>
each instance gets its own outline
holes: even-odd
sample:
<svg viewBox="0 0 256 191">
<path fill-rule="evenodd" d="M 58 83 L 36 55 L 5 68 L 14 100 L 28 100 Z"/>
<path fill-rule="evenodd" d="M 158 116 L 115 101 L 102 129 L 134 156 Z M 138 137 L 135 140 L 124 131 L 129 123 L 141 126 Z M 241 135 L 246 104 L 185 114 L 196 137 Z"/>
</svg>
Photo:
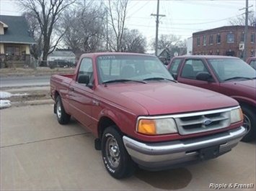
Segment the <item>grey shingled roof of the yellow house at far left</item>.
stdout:
<svg viewBox="0 0 256 191">
<path fill-rule="evenodd" d="M 35 44 L 30 35 L 25 17 L 0 15 L 4 25 L 4 34 L 0 34 L 0 42 L 16 44 Z"/>
</svg>

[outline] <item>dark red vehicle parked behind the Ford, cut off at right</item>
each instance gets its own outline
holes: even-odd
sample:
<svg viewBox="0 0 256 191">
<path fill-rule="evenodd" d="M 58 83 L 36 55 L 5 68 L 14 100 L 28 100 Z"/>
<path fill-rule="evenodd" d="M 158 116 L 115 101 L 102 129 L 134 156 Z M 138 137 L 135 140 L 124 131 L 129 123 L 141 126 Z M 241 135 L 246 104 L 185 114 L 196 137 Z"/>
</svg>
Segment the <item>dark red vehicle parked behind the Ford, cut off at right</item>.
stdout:
<svg viewBox="0 0 256 191">
<path fill-rule="evenodd" d="M 238 57 L 184 55 L 174 57 L 167 66 L 180 83 L 213 90 L 236 99 L 244 113 L 247 135 L 242 141 L 255 140 L 256 73 Z"/>
</svg>

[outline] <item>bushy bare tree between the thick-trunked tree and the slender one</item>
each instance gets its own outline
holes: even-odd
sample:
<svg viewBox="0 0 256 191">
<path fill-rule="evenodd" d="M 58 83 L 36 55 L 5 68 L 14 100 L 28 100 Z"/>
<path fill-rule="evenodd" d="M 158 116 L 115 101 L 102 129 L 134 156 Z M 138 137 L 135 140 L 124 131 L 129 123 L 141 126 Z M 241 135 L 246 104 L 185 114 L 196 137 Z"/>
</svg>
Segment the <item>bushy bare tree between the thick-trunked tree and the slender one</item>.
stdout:
<svg viewBox="0 0 256 191">
<path fill-rule="evenodd" d="M 61 27 L 66 30 L 63 41 L 76 55 L 102 50 L 105 10 L 92 1 L 79 2 L 72 11 L 66 11 Z"/>
</svg>

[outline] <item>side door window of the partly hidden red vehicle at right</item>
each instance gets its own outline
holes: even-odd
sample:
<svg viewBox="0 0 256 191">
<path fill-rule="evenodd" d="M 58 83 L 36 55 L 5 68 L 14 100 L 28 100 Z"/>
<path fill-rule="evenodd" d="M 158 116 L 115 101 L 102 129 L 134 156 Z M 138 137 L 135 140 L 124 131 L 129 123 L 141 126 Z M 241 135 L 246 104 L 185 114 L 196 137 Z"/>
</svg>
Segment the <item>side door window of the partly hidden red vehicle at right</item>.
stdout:
<svg viewBox="0 0 256 191">
<path fill-rule="evenodd" d="M 185 65 L 182 68 L 182 78 L 195 79 L 196 75 L 201 72 L 208 72 L 206 65 L 203 64 L 202 60 L 186 60 Z"/>
</svg>

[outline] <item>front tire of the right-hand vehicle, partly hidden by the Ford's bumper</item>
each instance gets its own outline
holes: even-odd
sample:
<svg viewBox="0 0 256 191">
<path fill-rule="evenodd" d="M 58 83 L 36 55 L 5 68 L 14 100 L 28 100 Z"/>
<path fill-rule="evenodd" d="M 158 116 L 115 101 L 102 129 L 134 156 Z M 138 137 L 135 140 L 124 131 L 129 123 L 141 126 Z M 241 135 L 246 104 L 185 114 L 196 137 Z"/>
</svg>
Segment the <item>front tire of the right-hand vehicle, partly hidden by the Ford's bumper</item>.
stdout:
<svg viewBox="0 0 256 191">
<path fill-rule="evenodd" d="M 250 142 L 255 140 L 255 114 L 252 108 L 248 106 L 242 106 L 242 111 L 244 113 L 244 128 L 247 129 L 247 134 L 243 137 L 243 142 Z"/>
</svg>

